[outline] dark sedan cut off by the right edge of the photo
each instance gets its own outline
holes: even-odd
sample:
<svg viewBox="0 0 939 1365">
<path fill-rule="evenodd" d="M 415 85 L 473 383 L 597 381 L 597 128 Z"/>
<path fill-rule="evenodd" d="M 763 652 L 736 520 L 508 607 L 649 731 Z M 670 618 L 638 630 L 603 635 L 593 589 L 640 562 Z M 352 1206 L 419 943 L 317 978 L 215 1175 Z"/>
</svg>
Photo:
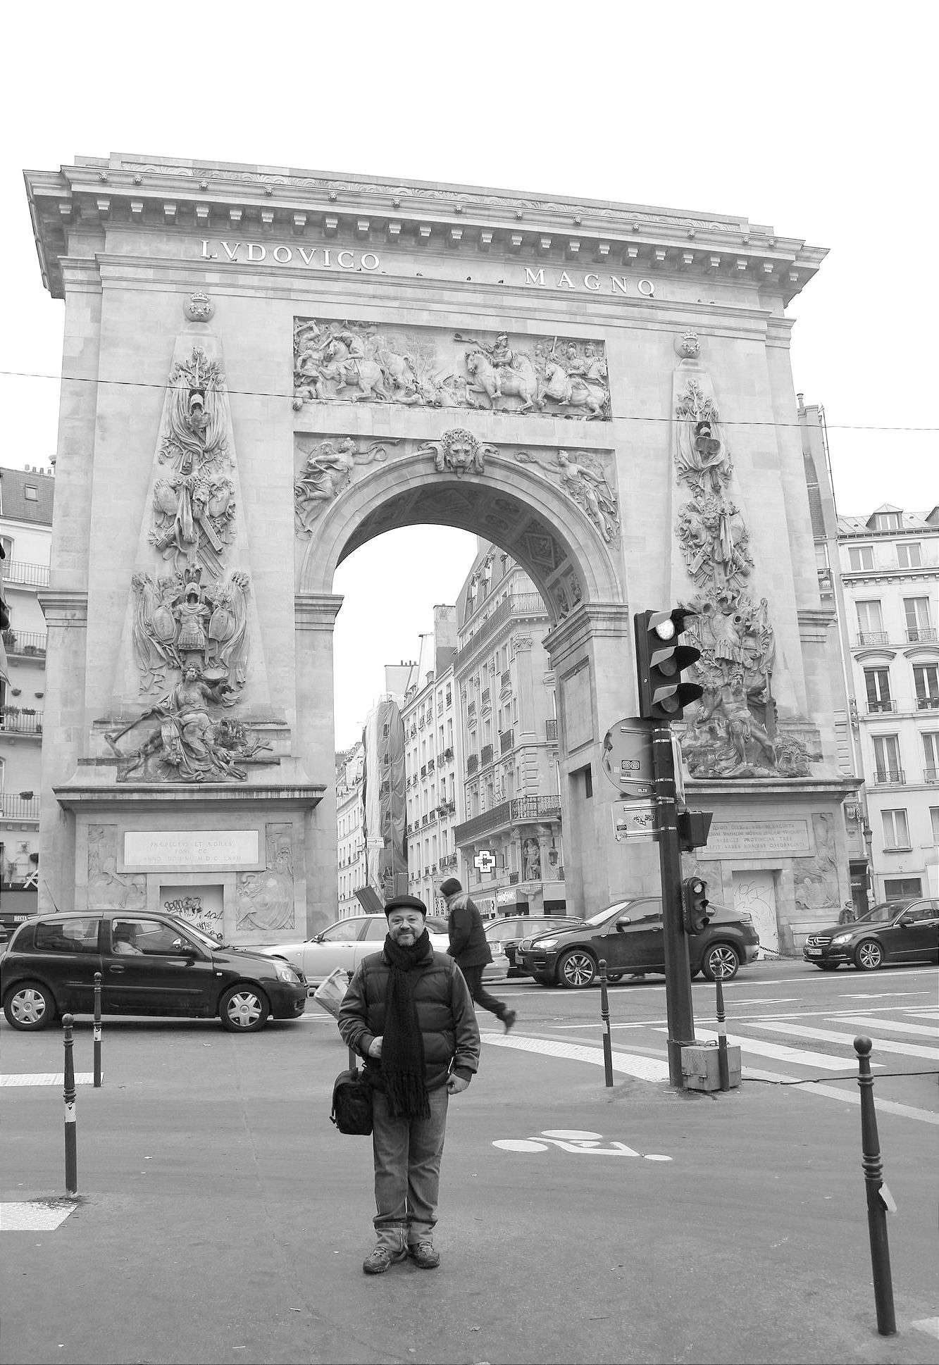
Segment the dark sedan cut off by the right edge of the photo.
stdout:
<svg viewBox="0 0 939 1365">
<path fill-rule="evenodd" d="M 849 924 L 809 934 L 803 957 L 823 972 L 850 962 L 873 972 L 887 962 L 939 961 L 939 901 L 882 901 Z"/>
</svg>

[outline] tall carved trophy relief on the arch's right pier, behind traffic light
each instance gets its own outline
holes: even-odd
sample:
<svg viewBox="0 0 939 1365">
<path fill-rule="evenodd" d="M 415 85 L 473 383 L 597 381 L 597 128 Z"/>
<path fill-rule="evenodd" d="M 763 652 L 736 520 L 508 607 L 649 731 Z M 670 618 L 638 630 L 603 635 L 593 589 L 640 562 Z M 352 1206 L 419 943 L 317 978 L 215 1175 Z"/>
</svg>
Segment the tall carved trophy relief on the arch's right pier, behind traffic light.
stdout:
<svg viewBox="0 0 939 1365">
<path fill-rule="evenodd" d="M 807 777 L 801 740 L 777 729 L 772 699 L 775 635 L 766 598 L 747 591 L 753 569 L 749 532 L 726 490 L 733 463 L 710 390 L 699 370 L 676 400 L 676 480 L 691 501 L 678 511 L 676 536 L 699 590 L 688 633 L 702 651 L 704 688 L 682 737 L 692 777 Z"/>
</svg>

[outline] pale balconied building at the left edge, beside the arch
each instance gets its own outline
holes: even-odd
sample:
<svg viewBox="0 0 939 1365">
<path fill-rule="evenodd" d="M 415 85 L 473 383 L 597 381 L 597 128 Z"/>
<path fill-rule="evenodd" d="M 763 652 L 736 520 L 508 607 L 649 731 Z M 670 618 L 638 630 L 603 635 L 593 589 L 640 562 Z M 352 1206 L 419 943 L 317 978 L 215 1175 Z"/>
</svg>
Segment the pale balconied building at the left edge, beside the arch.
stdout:
<svg viewBox="0 0 939 1365">
<path fill-rule="evenodd" d="M 45 617 L 49 586 L 52 470 L 0 468 L 3 632 L 7 676 L 0 680 L 0 915 L 35 913 L 40 864 Z"/>
</svg>

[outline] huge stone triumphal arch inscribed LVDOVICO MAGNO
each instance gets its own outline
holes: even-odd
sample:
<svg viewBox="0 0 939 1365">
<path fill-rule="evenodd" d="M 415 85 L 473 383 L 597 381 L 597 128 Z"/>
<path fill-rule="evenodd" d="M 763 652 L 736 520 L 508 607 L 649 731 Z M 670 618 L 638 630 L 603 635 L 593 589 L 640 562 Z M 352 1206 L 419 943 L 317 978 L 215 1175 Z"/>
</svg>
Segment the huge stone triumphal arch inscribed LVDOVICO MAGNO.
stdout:
<svg viewBox="0 0 939 1365">
<path fill-rule="evenodd" d="M 655 883 L 602 741 L 631 617 L 697 610 L 712 897 L 850 895 L 785 308 L 823 253 L 727 216 L 158 157 L 26 173 L 66 341 L 41 902 L 235 942 L 333 917 L 336 566 L 493 541 L 546 603 L 569 905 Z M 408 572 L 388 565 L 375 610 Z M 749 898 L 749 901 L 748 901 Z"/>
</svg>

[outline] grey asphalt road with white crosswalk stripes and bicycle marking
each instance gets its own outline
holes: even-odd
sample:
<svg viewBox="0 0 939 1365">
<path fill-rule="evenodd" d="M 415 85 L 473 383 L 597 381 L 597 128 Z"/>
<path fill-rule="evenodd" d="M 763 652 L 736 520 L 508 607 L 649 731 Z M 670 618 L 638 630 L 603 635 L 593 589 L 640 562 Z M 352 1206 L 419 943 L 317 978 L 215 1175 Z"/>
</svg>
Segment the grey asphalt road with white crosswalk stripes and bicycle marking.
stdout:
<svg viewBox="0 0 939 1365">
<path fill-rule="evenodd" d="M 613 1087 L 599 990 L 491 984 L 519 1022 L 506 1036 L 480 1014 L 480 1073 L 450 1106 L 444 1263 L 378 1278 L 360 1268 L 370 1144 L 328 1121 L 347 1054 L 313 1002 L 247 1037 L 106 1020 L 104 1085 L 78 1089 L 79 1201 L 48 1230 L 12 1231 L 7 1209 L 64 1212 L 61 1087 L 10 1082 L 60 1072 L 61 1035 L 3 1021 L 0 1362 L 935 1365 L 936 981 L 755 964 L 725 987 L 744 1063 L 725 1095 L 655 1078 L 661 977 L 610 988 Z M 695 984 L 699 1036 L 714 998 Z M 857 1033 L 875 1039 L 898 1207 L 890 1338 L 871 1283 Z M 91 1070 L 89 1021 L 75 1065 Z"/>
</svg>

